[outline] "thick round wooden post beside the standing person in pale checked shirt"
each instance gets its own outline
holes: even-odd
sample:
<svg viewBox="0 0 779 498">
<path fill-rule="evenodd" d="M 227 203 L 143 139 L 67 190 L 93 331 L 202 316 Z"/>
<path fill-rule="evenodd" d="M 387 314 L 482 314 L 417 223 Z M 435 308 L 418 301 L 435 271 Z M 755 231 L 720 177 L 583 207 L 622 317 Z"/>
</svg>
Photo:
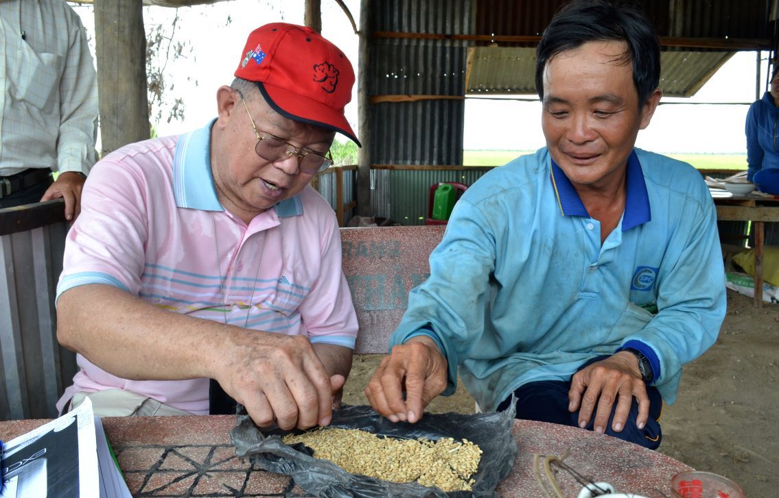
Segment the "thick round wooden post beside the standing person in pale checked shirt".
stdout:
<svg viewBox="0 0 779 498">
<path fill-rule="evenodd" d="M 100 155 L 149 138 L 142 0 L 95 0 Z"/>
</svg>

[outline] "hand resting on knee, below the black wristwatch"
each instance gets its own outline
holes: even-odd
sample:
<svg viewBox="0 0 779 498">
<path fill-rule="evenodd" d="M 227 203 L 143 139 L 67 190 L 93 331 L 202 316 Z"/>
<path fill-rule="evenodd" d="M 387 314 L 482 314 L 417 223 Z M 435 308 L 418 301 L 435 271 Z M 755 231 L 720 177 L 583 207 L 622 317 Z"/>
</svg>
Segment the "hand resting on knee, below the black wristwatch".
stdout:
<svg viewBox="0 0 779 498">
<path fill-rule="evenodd" d="M 616 401 L 617 409 L 614 413 L 612 429 L 619 432 L 625 427 L 633 397 L 638 401 L 636 426 L 643 429 L 649 418 L 647 385 L 641 378 L 636 355 L 628 351 L 620 351 L 605 360 L 588 365 L 573 375 L 571 389 L 568 392 L 568 409 L 571 413 L 580 409 L 580 427 L 586 427 L 590 423 L 590 417 L 595 411 L 594 430 L 598 434 L 603 434 Z"/>
</svg>

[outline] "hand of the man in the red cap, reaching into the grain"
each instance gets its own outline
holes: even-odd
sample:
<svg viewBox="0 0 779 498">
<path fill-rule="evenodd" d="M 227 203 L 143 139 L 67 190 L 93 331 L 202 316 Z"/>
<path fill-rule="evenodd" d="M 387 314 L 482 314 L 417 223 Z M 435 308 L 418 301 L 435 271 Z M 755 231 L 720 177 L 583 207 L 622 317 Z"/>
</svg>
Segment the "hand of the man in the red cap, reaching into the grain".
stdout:
<svg viewBox="0 0 779 498">
<path fill-rule="evenodd" d="M 344 376 L 327 373 L 305 336 L 231 331 L 214 378 L 260 427 L 326 426 Z M 223 352 L 227 354 L 222 354 Z"/>
</svg>

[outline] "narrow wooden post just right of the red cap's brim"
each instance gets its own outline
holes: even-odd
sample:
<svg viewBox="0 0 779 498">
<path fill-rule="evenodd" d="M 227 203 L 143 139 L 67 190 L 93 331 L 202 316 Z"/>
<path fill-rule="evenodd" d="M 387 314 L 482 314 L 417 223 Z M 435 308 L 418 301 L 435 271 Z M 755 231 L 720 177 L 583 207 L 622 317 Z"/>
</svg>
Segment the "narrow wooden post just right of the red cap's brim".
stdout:
<svg viewBox="0 0 779 498">
<path fill-rule="evenodd" d="M 358 130 L 362 147 L 357 151 L 357 214 L 371 216 L 371 103 L 370 64 L 371 0 L 360 2 L 360 48 L 357 71 Z"/>
</svg>

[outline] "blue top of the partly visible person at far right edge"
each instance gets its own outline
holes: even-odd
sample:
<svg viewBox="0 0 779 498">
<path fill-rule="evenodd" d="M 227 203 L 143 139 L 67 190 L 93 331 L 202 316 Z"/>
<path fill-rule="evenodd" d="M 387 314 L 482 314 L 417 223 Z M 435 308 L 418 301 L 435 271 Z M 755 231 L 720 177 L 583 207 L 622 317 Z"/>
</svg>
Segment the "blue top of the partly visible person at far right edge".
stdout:
<svg viewBox="0 0 779 498">
<path fill-rule="evenodd" d="M 765 92 L 746 113 L 746 179 L 760 169 L 779 168 L 779 109 L 774 97 Z"/>
</svg>

